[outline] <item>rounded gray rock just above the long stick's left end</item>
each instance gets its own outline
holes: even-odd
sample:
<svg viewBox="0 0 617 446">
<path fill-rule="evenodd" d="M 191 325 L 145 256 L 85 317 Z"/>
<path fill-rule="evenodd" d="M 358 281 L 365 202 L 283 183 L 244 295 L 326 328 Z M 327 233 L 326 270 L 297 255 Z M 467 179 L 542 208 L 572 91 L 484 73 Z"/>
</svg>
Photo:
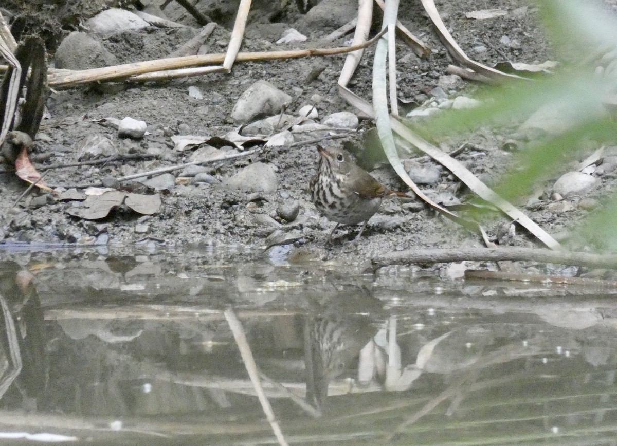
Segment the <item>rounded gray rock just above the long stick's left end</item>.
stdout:
<svg viewBox="0 0 617 446">
<path fill-rule="evenodd" d="M 56 68 L 87 70 L 117 64 L 118 59 L 101 42 L 78 31 L 66 36 L 56 50 Z"/>
</svg>

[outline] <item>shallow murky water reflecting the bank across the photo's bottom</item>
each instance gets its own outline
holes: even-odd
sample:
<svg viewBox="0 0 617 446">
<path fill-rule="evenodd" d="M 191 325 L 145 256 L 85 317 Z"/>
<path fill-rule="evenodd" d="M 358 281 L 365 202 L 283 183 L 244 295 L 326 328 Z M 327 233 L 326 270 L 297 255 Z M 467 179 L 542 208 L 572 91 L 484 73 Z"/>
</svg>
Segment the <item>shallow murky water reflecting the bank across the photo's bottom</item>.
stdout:
<svg viewBox="0 0 617 446">
<path fill-rule="evenodd" d="M 617 444 L 614 290 L 241 249 L 2 258 L 3 437 Z"/>
</svg>

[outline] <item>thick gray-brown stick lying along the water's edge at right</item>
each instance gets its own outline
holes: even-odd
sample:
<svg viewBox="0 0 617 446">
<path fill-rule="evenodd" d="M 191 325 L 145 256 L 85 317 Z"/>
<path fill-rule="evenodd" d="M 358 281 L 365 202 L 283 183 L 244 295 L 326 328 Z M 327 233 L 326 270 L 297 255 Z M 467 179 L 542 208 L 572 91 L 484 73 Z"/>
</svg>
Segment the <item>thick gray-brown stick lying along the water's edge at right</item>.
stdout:
<svg viewBox="0 0 617 446">
<path fill-rule="evenodd" d="M 408 249 L 373 257 L 375 268 L 408 263 L 497 262 L 526 260 L 529 262 L 577 265 L 588 268 L 617 268 L 617 255 L 589 254 L 564 250 L 536 248 L 466 248 L 466 249 Z"/>
</svg>

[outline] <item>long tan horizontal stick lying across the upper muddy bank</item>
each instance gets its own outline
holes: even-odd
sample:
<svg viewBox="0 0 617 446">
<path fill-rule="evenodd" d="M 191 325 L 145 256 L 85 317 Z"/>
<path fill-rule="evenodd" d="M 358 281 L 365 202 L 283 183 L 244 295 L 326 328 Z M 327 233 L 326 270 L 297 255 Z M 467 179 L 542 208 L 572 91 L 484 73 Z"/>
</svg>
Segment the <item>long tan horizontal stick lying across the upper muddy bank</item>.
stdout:
<svg viewBox="0 0 617 446">
<path fill-rule="evenodd" d="M 275 60 L 275 59 L 296 59 L 298 57 L 309 56 L 334 56 L 345 54 L 346 52 L 356 51 L 370 46 L 373 42 L 383 36 L 385 31 L 365 43 L 338 48 L 313 48 L 292 51 L 258 51 L 240 52 L 236 57 L 236 62 L 249 62 L 252 60 Z M 48 85 L 56 88 L 67 88 L 75 85 L 97 81 L 109 81 L 127 78 L 129 76 L 140 75 L 162 70 L 173 70 L 175 68 L 199 67 L 202 65 L 222 64 L 225 54 L 204 54 L 201 56 L 172 57 L 169 59 L 147 60 L 146 62 L 135 62 L 133 64 L 115 65 L 114 67 L 91 68 L 89 70 L 50 70 Z M 212 68 L 212 67 L 210 67 Z"/>
</svg>

